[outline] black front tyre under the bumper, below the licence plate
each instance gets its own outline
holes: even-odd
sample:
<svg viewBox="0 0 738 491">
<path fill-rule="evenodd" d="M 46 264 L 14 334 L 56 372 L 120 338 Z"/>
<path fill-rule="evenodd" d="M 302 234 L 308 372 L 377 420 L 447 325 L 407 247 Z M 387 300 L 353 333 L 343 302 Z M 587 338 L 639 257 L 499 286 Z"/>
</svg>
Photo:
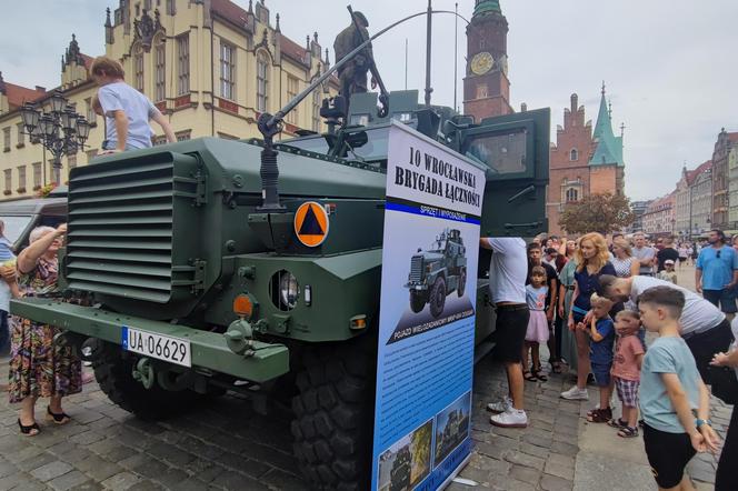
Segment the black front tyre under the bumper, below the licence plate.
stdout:
<svg viewBox="0 0 738 491">
<path fill-rule="evenodd" d="M 181 414 L 207 398 L 191 390 L 167 391 L 158 383 L 151 389 L 144 388 L 133 380 L 132 370 L 137 361 L 137 357 L 108 344 L 100 358 L 92 362 L 100 390 L 136 417 L 147 421 L 166 419 Z"/>
</svg>

